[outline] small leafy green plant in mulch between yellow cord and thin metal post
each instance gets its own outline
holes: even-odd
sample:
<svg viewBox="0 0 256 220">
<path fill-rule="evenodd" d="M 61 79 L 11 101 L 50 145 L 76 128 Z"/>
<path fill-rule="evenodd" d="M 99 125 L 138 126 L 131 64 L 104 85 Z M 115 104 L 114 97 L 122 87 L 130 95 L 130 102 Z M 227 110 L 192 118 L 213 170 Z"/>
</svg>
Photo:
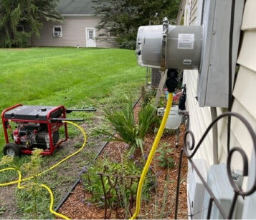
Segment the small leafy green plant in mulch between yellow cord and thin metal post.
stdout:
<svg viewBox="0 0 256 220">
<path fill-rule="evenodd" d="M 156 160 L 159 161 L 159 166 L 163 168 L 174 168 L 175 166 L 174 159 L 170 155 L 173 149 L 169 148 L 169 146 L 169 144 L 163 143 L 161 144 L 160 149 L 157 150 L 160 155 Z"/>
</svg>

